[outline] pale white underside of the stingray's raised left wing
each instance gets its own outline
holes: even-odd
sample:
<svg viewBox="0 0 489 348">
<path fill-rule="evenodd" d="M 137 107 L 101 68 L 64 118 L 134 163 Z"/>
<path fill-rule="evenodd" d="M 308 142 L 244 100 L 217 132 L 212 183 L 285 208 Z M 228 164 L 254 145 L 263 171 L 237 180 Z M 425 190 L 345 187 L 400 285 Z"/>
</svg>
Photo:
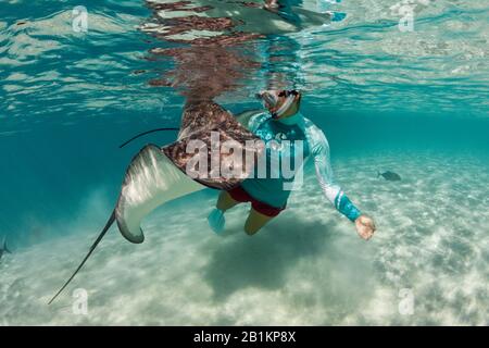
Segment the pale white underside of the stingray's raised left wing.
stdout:
<svg viewBox="0 0 489 348">
<path fill-rule="evenodd" d="M 181 172 L 156 146 L 148 145 L 130 162 L 115 207 L 122 235 L 142 243 L 142 219 L 156 207 L 205 186 Z"/>
</svg>

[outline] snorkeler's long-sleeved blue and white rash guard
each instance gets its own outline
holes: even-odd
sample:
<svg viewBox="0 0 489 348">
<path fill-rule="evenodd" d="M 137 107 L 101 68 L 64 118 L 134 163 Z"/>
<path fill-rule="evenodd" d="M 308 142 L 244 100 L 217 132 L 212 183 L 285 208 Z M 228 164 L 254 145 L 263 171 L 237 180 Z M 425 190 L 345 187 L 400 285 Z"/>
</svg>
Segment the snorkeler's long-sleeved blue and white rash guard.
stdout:
<svg viewBox="0 0 489 348">
<path fill-rule="evenodd" d="M 341 187 L 335 184 L 328 141 L 324 133 L 310 120 L 297 113 L 276 121 L 268 112 L 260 112 L 249 114 L 239 121 L 259 136 L 266 148 L 266 175 L 259 173 L 258 166 L 254 176 L 241 183 L 241 187 L 251 197 L 275 208 L 285 208 L 290 196 L 290 189 L 285 187 L 292 184 L 303 162 L 312 156 L 316 177 L 326 198 L 349 220 L 355 221 L 360 216 L 360 210 L 344 195 Z M 302 147 L 294 140 L 302 140 Z M 284 173 L 284 165 L 274 165 L 276 161 L 289 163 L 287 173 Z"/>
</svg>

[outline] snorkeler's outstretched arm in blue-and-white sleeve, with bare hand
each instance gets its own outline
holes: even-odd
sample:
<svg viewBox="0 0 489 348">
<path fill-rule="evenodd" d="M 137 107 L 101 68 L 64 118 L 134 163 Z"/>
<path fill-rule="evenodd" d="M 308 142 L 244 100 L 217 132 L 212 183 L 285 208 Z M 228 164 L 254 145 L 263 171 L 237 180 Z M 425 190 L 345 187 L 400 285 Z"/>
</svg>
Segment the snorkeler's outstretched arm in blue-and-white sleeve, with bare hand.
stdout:
<svg viewBox="0 0 489 348">
<path fill-rule="evenodd" d="M 335 183 L 329 160 L 329 145 L 324 133 L 315 125 L 309 125 L 308 141 L 314 159 L 316 177 L 326 198 L 350 221 L 355 223 L 356 232 L 364 239 L 369 239 L 375 232 L 374 221 L 361 211 Z"/>
</svg>

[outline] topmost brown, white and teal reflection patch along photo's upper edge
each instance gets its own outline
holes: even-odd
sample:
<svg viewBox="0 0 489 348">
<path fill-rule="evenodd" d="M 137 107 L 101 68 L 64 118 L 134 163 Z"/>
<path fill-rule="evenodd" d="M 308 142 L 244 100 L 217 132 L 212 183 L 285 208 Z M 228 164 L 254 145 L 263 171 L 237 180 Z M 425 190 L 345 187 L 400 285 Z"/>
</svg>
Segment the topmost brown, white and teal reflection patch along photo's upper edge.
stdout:
<svg viewBox="0 0 489 348">
<path fill-rule="evenodd" d="M 296 33 L 305 27 L 328 24 L 330 13 L 296 5 L 267 9 L 263 1 L 158 0 L 147 1 L 153 11 L 150 23 L 141 29 L 165 40 L 205 44 L 220 37 Z"/>
</svg>

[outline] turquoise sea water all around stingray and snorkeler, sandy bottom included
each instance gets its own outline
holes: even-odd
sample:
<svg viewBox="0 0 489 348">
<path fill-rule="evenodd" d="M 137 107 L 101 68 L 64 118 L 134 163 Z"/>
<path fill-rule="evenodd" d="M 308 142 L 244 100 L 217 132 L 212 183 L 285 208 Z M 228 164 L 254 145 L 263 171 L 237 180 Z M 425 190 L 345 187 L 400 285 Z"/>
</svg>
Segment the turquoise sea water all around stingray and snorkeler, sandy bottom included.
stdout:
<svg viewBox="0 0 489 348">
<path fill-rule="evenodd" d="M 397 1 L 327 4 L 347 17 L 326 24 L 316 1 L 280 13 L 159 3 L 0 4 L 0 238 L 14 251 L 0 260 L 0 324 L 489 323 L 487 1 L 417 1 L 413 32 L 398 27 Z M 73 30 L 76 5 L 86 33 Z M 337 181 L 377 222 L 372 240 L 324 199 L 309 163 L 303 189 L 256 236 L 242 233 L 246 207 L 213 234 L 216 191 L 193 194 L 153 212 L 141 246 L 113 228 L 46 304 L 105 223 L 131 157 L 175 134 L 120 144 L 178 126 L 189 95 L 238 113 L 271 85 L 303 90 Z M 89 294 L 87 315 L 71 309 L 75 288 Z"/>
</svg>

